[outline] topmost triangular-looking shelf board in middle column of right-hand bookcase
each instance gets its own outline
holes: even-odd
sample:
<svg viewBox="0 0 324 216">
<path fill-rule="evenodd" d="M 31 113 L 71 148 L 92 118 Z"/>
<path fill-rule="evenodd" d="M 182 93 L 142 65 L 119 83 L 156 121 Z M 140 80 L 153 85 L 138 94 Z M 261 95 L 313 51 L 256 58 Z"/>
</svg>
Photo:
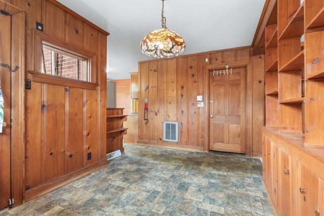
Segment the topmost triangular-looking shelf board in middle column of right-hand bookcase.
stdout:
<svg viewBox="0 0 324 216">
<path fill-rule="evenodd" d="M 279 40 L 301 37 L 304 34 L 304 3 L 302 3 L 292 20 L 288 23 Z"/>
</svg>

